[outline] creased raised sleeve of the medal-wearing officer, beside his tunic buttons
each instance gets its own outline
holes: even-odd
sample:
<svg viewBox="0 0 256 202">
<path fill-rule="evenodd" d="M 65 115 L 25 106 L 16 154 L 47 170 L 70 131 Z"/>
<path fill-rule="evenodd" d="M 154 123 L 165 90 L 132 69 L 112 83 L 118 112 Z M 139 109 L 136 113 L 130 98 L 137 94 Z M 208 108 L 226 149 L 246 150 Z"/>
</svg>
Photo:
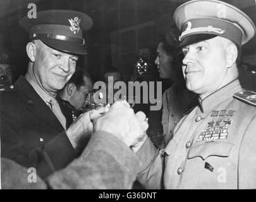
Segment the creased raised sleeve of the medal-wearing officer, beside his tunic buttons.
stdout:
<svg viewBox="0 0 256 202">
<path fill-rule="evenodd" d="M 164 160 L 152 142 L 147 139 L 137 151 L 137 156 L 142 163 L 137 175 L 138 181 L 146 189 L 162 189 Z"/>
</svg>

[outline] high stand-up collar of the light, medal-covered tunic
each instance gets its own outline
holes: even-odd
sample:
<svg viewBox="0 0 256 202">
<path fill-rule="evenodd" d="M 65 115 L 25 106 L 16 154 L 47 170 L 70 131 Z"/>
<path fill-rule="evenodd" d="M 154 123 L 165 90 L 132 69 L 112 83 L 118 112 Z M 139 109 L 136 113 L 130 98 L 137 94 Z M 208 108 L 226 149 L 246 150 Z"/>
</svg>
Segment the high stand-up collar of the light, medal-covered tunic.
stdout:
<svg viewBox="0 0 256 202">
<path fill-rule="evenodd" d="M 233 97 L 236 92 L 241 90 L 242 88 L 238 79 L 231 81 L 231 83 L 228 83 L 222 88 L 219 88 L 219 90 L 217 90 L 216 92 L 205 97 L 204 100 L 201 100 L 198 97 L 199 107 L 202 112 L 207 112 L 208 110 L 211 110 L 214 106 L 219 105 L 224 100 Z"/>
</svg>

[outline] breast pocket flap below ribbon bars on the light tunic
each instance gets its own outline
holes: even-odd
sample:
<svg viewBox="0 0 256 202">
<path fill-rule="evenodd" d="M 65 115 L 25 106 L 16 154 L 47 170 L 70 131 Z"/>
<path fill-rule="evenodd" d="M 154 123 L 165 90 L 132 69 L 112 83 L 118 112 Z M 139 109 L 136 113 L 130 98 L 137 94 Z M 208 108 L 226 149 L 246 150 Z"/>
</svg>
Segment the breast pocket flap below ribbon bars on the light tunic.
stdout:
<svg viewBox="0 0 256 202">
<path fill-rule="evenodd" d="M 195 145 L 190 148 L 188 153 L 188 159 L 200 157 L 202 160 L 205 160 L 208 157 L 229 157 L 229 154 L 232 150 L 233 143 L 229 142 L 210 142 L 210 143 L 201 143 L 200 145 Z"/>
</svg>

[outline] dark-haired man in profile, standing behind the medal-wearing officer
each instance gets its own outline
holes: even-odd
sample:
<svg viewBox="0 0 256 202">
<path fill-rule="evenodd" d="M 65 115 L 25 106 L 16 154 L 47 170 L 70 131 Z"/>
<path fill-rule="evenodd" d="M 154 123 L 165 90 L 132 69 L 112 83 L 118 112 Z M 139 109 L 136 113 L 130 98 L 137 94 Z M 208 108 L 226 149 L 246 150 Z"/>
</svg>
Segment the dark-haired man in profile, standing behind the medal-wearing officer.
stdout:
<svg viewBox="0 0 256 202">
<path fill-rule="evenodd" d="M 168 44 L 163 35 L 156 52 L 155 65 L 160 78 L 169 78 L 173 83 L 162 95 L 161 122 L 164 142 L 160 147 L 164 148 L 173 138 L 174 128 L 180 119 L 197 105 L 197 95 L 186 88 L 181 70 L 182 57 L 175 47 Z"/>
</svg>

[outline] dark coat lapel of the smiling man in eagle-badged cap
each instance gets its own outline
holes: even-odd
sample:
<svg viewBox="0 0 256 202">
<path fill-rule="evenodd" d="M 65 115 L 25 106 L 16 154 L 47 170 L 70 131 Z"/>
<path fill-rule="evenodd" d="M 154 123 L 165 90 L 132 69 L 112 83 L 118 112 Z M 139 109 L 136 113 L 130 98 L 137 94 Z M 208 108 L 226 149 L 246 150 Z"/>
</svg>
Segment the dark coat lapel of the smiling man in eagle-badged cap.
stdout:
<svg viewBox="0 0 256 202">
<path fill-rule="evenodd" d="M 57 117 L 53 114 L 44 100 L 40 98 L 37 92 L 35 92 L 34 88 L 28 83 L 24 76 L 20 76 L 16 81 L 15 88 L 20 92 L 27 109 L 30 110 L 32 114 L 52 128 L 55 128 L 60 132 L 64 130 Z"/>
</svg>

